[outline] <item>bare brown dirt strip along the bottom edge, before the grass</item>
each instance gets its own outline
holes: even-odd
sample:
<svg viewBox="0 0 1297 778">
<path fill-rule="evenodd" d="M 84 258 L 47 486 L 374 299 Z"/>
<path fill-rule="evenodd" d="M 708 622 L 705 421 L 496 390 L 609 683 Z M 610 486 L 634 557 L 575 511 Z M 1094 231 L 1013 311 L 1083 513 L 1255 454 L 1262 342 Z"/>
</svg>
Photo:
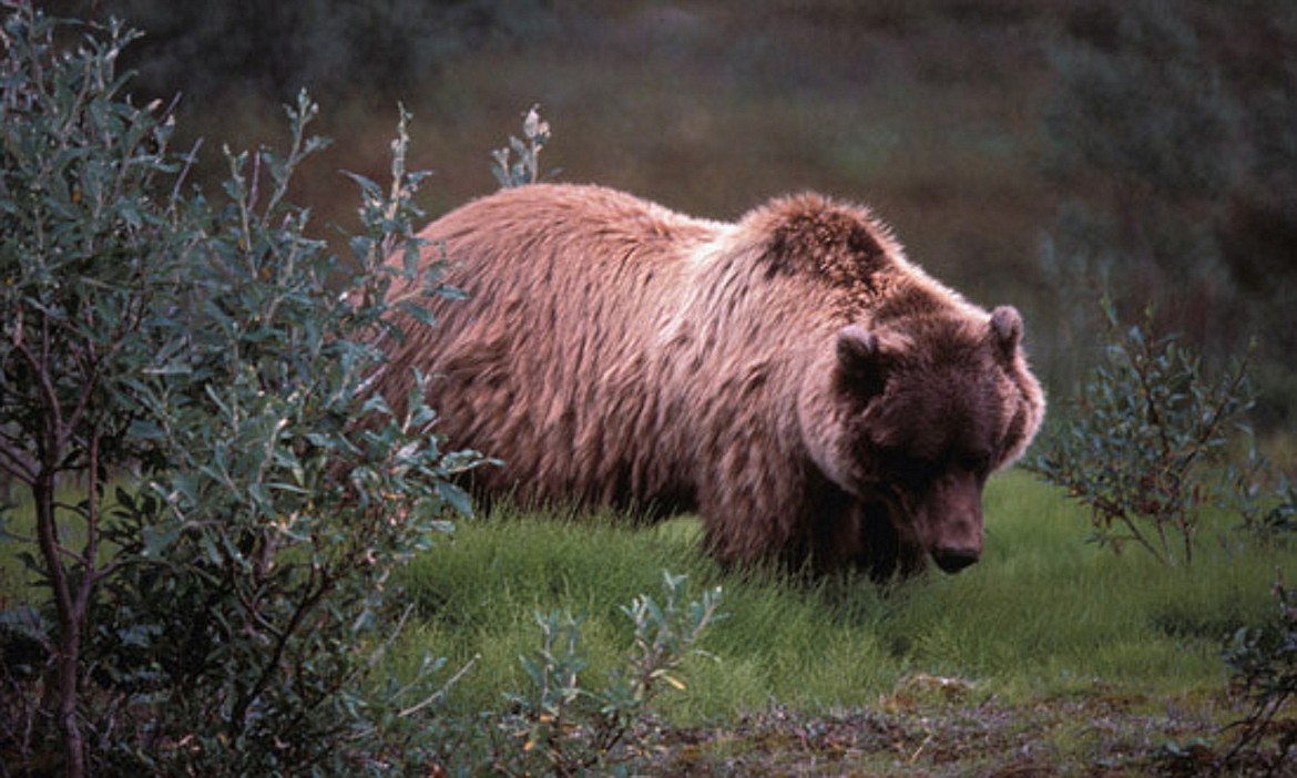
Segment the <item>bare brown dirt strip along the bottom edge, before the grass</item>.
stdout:
<svg viewBox="0 0 1297 778">
<path fill-rule="evenodd" d="M 921 705 L 808 716 L 776 707 L 729 726 L 658 730 L 643 753 L 663 775 L 1134 777 L 1297 775 L 1271 744 L 1230 753 L 1204 712 L 1143 700 Z M 647 766 L 647 765 L 645 765 Z"/>
</svg>

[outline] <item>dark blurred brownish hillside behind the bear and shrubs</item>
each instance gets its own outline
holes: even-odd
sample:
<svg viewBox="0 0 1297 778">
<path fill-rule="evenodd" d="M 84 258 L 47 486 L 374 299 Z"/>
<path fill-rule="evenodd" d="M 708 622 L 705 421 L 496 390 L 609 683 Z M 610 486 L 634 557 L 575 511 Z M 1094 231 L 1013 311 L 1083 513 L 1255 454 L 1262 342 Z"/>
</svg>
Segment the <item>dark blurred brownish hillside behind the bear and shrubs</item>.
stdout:
<svg viewBox="0 0 1297 778">
<path fill-rule="evenodd" d="M 1257 341 L 1255 420 L 1297 419 L 1297 4 L 1086 0 L 60 0 L 126 19 L 140 99 L 182 144 L 284 144 L 306 87 L 335 145 L 297 200 L 350 224 L 415 115 L 429 215 L 495 188 L 534 102 L 560 180 L 732 219 L 818 189 L 866 202 L 973 301 L 1013 303 L 1057 399 L 1108 290 L 1219 366 Z M 210 185 L 209 185 L 210 187 Z M 214 189 L 214 187 L 210 187 Z"/>
</svg>

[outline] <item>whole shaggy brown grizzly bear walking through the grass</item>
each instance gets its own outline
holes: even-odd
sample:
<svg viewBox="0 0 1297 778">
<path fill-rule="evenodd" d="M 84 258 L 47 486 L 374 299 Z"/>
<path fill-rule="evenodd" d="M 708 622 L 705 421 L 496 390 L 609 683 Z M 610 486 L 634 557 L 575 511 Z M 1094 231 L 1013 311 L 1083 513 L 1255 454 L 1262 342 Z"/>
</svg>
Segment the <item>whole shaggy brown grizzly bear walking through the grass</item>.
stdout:
<svg viewBox="0 0 1297 778">
<path fill-rule="evenodd" d="M 737 223 L 593 185 L 533 184 L 427 227 L 467 301 L 390 346 L 473 486 L 530 502 L 696 511 L 722 563 L 875 578 L 982 552 L 982 488 L 1044 399 L 1013 307 L 907 261 L 869 210 L 805 193 Z"/>
</svg>

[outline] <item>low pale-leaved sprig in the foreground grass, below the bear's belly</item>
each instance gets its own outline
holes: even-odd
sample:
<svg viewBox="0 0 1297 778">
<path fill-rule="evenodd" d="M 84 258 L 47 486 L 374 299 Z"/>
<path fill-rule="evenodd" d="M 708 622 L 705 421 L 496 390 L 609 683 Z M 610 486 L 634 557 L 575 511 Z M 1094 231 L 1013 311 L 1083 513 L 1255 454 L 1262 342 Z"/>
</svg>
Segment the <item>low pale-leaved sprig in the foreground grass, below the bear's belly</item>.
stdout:
<svg viewBox="0 0 1297 778">
<path fill-rule="evenodd" d="M 541 648 L 523 656 L 530 681 L 528 694 L 510 695 L 508 713 L 499 721 L 495 769 L 532 774 L 575 775 L 617 761 L 615 748 L 646 716 L 663 683 L 685 689 L 680 677 L 689 655 L 704 654 L 698 642 L 704 630 L 724 619 L 716 611 L 720 587 L 702 600 L 682 603 L 685 577 L 663 573 L 663 603 L 637 596 L 621 611 L 634 624 L 634 641 L 625 664 L 610 673 L 601 690 L 581 683 L 588 661 L 580 651 L 584 619 L 563 612 L 537 613 Z"/>
</svg>

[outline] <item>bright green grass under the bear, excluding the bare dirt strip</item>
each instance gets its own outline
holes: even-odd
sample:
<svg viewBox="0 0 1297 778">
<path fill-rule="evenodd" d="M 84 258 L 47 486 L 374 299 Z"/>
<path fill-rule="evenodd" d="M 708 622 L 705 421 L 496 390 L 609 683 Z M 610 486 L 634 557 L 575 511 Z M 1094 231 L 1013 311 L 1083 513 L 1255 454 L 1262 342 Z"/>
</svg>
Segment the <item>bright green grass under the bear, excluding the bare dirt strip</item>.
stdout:
<svg viewBox="0 0 1297 778">
<path fill-rule="evenodd" d="M 691 660 L 687 689 L 661 698 L 676 725 L 772 701 L 877 707 L 927 676 L 1009 705 L 1087 695 L 1196 704 L 1224 692 L 1224 638 L 1268 616 L 1276 571 L 1297 571 L 1297 554 L 1226 545 L 1223 528 L 1206 533 L 1192 568 L 1137 548 L 1113 555 L 1084 543 L 1082 507 L 1022 472 L 991 482 L 987 516 L 981 564 L 883 593 L 859 580 L 722 574 L 698 551 L 690 519 L 634 528 L 608 515 L 505 511 L 462 523 L 454 545 L 407 571 L 418 617 L 401 651 L 445 655 L 450 666 L 476 657 L 450 704 L 492 708 L 524 682 L 518 657 L 538 644 L 533 613 L 564 608 L 589 617 L 584 683 L 598 686 L 630 638 L 617 606 L 655 595 L 669 569 L 687 573 L 695 594 L 720 584 L 729 615 L 704 638 L 716 659 Z"/>
</svg>

